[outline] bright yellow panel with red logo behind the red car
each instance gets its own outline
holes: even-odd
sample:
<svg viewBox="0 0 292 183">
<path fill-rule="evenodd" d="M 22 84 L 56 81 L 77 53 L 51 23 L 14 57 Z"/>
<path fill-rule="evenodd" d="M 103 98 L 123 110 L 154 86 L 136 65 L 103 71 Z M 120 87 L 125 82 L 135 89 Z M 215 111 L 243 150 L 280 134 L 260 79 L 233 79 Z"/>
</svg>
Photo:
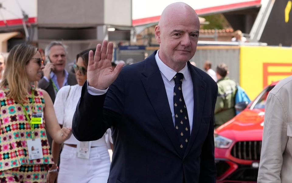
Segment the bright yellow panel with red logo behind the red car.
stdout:
<svg viewBox="0 0 292 183">
<path fill-rule="evenodd" d="M 254 99 L 259 92 L 270 84 L 271 81 L 280 80 L 287 77 L 281 72 L 291 72 L 289 68 L 292 64 L 292 48 L 289 47 L 265 47 L 265 46 L 241 46 L 239 60 L 239 84 L 251 99 Z M 268 66 L 264 71 L 265 64 L 279 64 L 280 66 Z M 283 66 L 281 64 L 287 64 Z M 290 64 L 290 66 L 289 66 Z M 271 70 L 269 70 L 271 69 Z M 271 76 L 269 72 L 276 71 L 278 75 Z M 265 75 L 266 73 L 266 75 Z"/>
</svg>

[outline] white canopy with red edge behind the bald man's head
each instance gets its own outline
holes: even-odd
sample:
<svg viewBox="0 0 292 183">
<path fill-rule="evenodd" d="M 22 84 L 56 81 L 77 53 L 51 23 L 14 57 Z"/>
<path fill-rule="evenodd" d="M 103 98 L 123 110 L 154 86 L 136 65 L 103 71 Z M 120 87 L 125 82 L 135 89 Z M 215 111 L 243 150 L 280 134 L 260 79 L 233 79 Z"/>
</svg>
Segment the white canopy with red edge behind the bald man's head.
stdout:
<svg viewBox="0 0 292 183">
<path fill-rule="evenodd" d="M 148 0 L 147 3 L 141 3 L 141 0 L 132 0 L 132 25 L 139 26 L 158 22 L 163 9 L 176 0 L 157 1 Z M 254 6 L 260 6 L 262 0 L 182 0 L 196 10 L 199 16 L 227 12 L 236 9 L 245 9 Z"/>
</svg>

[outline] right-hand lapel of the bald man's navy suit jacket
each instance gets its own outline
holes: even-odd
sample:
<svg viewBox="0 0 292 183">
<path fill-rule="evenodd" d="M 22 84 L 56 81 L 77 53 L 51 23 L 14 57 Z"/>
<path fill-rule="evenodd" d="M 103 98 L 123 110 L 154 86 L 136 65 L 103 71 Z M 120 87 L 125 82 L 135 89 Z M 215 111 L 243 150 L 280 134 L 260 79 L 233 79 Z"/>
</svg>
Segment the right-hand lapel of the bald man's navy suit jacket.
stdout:
<svg viewBox="0 0 292 183">
<path fill-rule="evenodd" d="M 198 134 L 198 131 L 201 126 L 201 119 L 203 115 L 203 106 L 205 103 L 206 96 L 206 83 L 201 79 L 202 76 L 199 75 L 193 66 L 188 62 L 188 66 L 191 72 L 191 77 L 193 81 L 193 95 L 194 95 L 194 111 L 193 111 L 193 128 L 191 132 L 191 136 L 189 138 L 189 144 L 186 147 L 186 152 L 184 157 L 187 156 L 189 150 L 193 146 L 194 140 Z"/>
</svg>

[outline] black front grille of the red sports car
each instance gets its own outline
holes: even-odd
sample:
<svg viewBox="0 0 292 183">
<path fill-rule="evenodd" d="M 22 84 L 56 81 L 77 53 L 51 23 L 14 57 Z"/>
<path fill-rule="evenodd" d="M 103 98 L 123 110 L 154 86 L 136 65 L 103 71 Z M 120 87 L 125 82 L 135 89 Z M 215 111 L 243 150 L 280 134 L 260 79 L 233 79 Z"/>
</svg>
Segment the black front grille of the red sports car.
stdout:
<svg viewBox="0 0 292 183">
<path fill-rule="evenodd" d="M 231 155 L 242 160 L 259 161 L 262 141 L 239 141 L 231 149 Z"/>
</svg>

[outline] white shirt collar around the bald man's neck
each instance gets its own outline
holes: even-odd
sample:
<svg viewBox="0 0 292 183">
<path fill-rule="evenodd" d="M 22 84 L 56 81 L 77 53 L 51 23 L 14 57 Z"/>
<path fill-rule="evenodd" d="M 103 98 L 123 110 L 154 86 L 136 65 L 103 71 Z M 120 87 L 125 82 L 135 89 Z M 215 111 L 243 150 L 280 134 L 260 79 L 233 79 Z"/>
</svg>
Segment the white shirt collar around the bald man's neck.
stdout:
<svg viewBox="0 0 292 183">
<path fill-rule="evenodd" d="M 162 60 L 158 56 L 158 52 L 159 52 L 159 50 L 155 54 L 155 60 L 156 60 L 156 63 L 158 65 L 158 68 L 159 68 L 160 72 L 168 79 L 168 81 L 170 81 L 176 75 L 176 71 L 173 70 L 172 68 L 168 67 L 167 65 L 165 65 L 162 62 Z M 189 76 L 188 64 L 186 64 L 186 66 L 183 67 L 182 70 L 180 70 L 179 72 L 182 73 L 183 77 L 187 80 L 188 76 Z"/>
</svg>

